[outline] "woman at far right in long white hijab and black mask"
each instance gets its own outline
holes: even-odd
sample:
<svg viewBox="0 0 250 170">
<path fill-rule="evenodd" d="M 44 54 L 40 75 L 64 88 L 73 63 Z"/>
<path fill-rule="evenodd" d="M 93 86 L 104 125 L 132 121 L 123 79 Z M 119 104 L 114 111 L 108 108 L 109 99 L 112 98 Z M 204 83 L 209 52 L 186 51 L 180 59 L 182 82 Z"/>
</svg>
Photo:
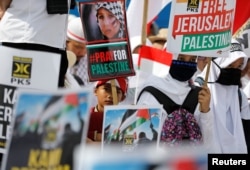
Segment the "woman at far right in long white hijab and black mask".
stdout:
<svg viewBox="0 0 250 170">
<path fill-rule="evenodd" d="M 246 63 L 247 56 L 235 40 L 232 40 L 228 57 L 219 57 L 211 62 L 208 87 L 214 113 L 214 125 L 211 127 L 214 131 L 214 153 L 247 153 L 241 118 L 249 117 L 249 107 L 246 96 L 238 91 L 241 70 Z M 204 78 L 206 70 L 207 67 L 198 77 Z"/>
</svg>

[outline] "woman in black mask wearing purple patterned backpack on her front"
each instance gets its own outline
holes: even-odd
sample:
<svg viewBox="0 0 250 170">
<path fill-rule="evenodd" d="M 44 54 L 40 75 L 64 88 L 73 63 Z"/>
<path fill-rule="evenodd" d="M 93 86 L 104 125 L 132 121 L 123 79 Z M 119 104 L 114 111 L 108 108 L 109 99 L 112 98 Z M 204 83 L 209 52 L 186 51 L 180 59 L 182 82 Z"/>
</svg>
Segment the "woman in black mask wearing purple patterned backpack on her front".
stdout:
<svg viewBox="0 0 250 170">
<path fill-rule="evenodd" d="M 197 88 L 194 88 L 193 86 L 190 86 L 189 84 L 190 78 L 194 75 L 194 73 L 197 70 L 197 64 L 196 64 L 197 57 L 192 56 L 192 55 L 179 54 L 178 56 L 174 56 L 174 58 L 175 59 L 172 61 L 172 64 L 170 66 L 169 74 L 167 74 L 165 78 L 160 78 L 156 76 L 149 77 L 148 80 L 144 83 L 143 89 L 149 86 L 156 88 L 159 90 L 161 94 L 166 95 L 168 98 L 170 98 L 171 101 L 175 103 L 174 107 L 176 106 L 176 104 L 179 107 L 184 103 L 191 89 L 194 89 L 194 90 L 197 89 Z M 161 96 L 155 95 L 149 91 L 140 92 L 138 98 L 139 98 L 137 102 L 138 105 L 161 104 L 160 102 Z M 211 126 L 213 126 L 213 122 L 212 122 L 213 114 L 210 111 L 209 88 L 204 86 L 201 89 L 197 89 L 193 97 L 189 98 L 188 100 L 190 100 L 190 102 L 192 102 L 193 100 L 194 101 L 196 100 L 196 102 L 198 103 L 198 104 L 196 103 L 193 106 L 194 108 L 193 115 L 195 119 L 193 119 L 192 123 L 193 124 L 195 123 L 196 125 L 198 124 L 196 128 L 200 129 L 201 131 L 200 132 L 201 134 L 199 134 L 199 141 L 200 140 L 203 141 L 203 145 L 206 146 L 207 149 L 210 149 L 211 146 L 209 145 L 209 143 L 212 137 Z M 166 107 L 171 107 L 171 106 L 169 105 Z M 173 110 L 174 108 L 171 108 L 171 109 Z M 182 114 L 182 112 L 183 112 L 183 109 L 181 110 L 180 114 Z M 165 126 L 168 126 L 168 121 L 172 119 L 169 116 L 171 116 L 171 113 L 165 110 L 165 106 L 164 106 L 163 120 L 162 120 L 163 129 L 161 133 L 162 146 L 175 145 L 175 143 L 178 142 L 178 141 L 175 141 L 175 139 L 171 141 L 168 141 L 168 139 L 166 139 L 166 135 L 170 135 L 172 133 L 170 132 L 169 134 L 166 134 L 167 132 L 165 131 L 166 129 L 164 128 Z M 177 125 L 179 124 L 178 120 L 174 120 L 174 121 L 176 122 L 172 122 L 172 123 L 176 123 Z M 193 125 L 191 124 L 190 124 L 190 127 L 192 128 Z M 183 130 L 185 130 L 185 128 L 183 128 Z M 201 135 L 202 135 L 202 138 L 201 138 Z M 190 137 L 193 137 L 193 136 L 189 136 L 189 139 L 191 139 Z"/>
</svg>

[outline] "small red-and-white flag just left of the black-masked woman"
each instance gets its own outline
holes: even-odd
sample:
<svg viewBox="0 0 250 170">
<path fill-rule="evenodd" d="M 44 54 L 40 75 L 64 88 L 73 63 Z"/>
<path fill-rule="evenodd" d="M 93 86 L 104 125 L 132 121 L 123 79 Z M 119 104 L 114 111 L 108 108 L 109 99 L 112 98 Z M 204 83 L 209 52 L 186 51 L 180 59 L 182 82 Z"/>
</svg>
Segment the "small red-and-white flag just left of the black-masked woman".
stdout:
<svg viewBox="0 0 250 170">
<path fill-rule="evenodd" d="M 139 70 L 158 77 L 168 74 L 172 63 L 172 54 L 154 47 L 142 46 L 139 53 Z"/>
</svg>

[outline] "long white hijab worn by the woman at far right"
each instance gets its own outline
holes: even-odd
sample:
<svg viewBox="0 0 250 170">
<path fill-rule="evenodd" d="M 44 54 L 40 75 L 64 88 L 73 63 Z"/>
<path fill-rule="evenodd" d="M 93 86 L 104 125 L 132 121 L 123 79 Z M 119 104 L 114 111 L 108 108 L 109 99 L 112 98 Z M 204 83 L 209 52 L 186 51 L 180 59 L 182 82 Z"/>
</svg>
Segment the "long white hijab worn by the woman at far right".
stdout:
<svg viewBox="0 0 250 170">
<path fill-rule="evenodd" d="M 244 58 L 246 66 L 247 56 L 241 51 L 230 52 L 229 57 L 216 58 L 220 68 L 225 68 L 239 58 Z M 198 75 L 205 77 L 207 67 Z M 208 82 L 215 82 L 220 74 L 220 69 L 211 61 Z M 211 110 L 214 113 L 214 152 L 216 153 L 246 153 L 244 131 L 241 121 L 239 107 L 239 96 L 237 85 L 221 85 L 219 83 L 208 83 L 211 92 Z"/>
</svg>

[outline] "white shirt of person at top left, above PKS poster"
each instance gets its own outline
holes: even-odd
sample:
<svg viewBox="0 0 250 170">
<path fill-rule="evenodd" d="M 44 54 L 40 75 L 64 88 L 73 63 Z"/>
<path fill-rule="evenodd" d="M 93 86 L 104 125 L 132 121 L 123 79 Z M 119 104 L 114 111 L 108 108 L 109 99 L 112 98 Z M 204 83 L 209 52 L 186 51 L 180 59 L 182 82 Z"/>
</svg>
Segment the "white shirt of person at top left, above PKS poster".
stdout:
<svg viewBox="0 0 250 170">
<path fill-rule="evenodd" d="M 49 15 L 46 0 L 12 0 L 0 22 L 0 42 L 65 48 L 67 14 Z"/>
</svg>

